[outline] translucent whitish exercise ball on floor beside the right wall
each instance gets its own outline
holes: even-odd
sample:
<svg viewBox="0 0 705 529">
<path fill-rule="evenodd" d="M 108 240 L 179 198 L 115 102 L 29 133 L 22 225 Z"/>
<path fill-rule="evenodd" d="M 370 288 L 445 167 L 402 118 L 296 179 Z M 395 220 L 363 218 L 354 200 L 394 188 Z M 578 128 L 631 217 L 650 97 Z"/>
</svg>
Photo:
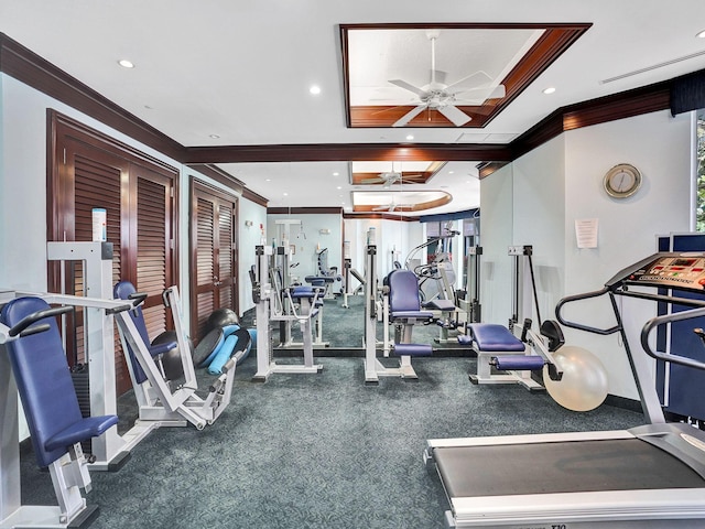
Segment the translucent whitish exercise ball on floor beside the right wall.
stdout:
<svg viewBox="0 0 705 529">
<path fill-rule="evenodd" d="M 549 368 L 543 368 L 543 384 L 549 395 L 563 408 L 589 411 L 605 401 L 609 384 L 607 371 L 599 358 L 583 347 L 567 345 L 553 353 L 563 371 L 563 378 L 551 380 Z"/>
</svg>

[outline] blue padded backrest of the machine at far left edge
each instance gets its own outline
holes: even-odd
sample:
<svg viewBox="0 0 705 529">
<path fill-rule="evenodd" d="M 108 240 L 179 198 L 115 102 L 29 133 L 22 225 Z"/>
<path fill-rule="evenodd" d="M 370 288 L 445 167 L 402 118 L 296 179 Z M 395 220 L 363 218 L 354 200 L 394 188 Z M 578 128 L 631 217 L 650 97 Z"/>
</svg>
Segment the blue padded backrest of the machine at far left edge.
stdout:
<svg viewBox="0 0 705 529">
<path fill-rule="evenodd" d="M 39 298 L 18 298 L 4 305 L 0 319 L 11 327 L 25 316 L 46 309 L 50 305 Z M 82 420 L 56 320 L 47 317 L 35 325 L 43 323 L 50 325 L 48 331 L 6 345 L 36 461 L 42 467 L 66 453 L 65 446 L 46 451 L 46 441 Z"/>
</svg>

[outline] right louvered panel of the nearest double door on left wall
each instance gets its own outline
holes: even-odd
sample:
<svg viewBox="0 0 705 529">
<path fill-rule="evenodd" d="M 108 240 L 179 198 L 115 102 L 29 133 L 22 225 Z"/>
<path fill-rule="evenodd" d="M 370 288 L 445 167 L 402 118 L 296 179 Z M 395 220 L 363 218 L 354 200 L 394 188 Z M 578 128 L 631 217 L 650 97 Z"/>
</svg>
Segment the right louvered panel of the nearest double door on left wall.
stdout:
<svg viewBox="0 0 705 529">
<path fill-rule="evenodd" d="M 148 294 L 143 305 L 148 334 L 154 339 L 166 331 L 166 310 L 162 293 L 174 284 L 170 263 L 173 260 L 171 225 L 172 181 L 145 168 L 137 174 L 137 223 L 130 226 L 137 238 L 135 288 Z M 172 325 L 169 325 L 172 327 Z"/>
</svg>

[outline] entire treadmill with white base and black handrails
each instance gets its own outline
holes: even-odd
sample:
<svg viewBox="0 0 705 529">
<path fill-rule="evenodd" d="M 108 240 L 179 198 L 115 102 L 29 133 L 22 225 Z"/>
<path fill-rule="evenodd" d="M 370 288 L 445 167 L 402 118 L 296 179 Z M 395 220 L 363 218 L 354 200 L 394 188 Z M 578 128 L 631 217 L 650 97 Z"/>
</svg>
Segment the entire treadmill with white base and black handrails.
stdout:
<svg viewBox="0 0 705 529">
<path fill-rule="evenodd" d="M 703 361 L 653 350 L 649 344 L 654 328 L 705 315 L 705 295 L 702 300 L 677 295 L 679 291 L 705 294 L 704 285 L 705 253 L 659 252 L 623 269 L 598 291 L 561 300 L 556 317 L 563 325 L 621 335 L 648 424 L 623 431 L 429 440 L 424 461 L 435 465 L 445 489 L 451 506 L 446 526 L 704 528 L 705 432 L 665 422 L 651 360 L 632 354 L 618 303 L 618 296 L 628 296 L 666 307 L 684 305 L 681 312 L 647 322 L 641 345 L 659 360 L 705 369 Z M 564 305 L 603 295 L 615 313 L 612 327 L 563 317 Z M 705 342 L 705 333 L 696 332 Z"/>
</svg>

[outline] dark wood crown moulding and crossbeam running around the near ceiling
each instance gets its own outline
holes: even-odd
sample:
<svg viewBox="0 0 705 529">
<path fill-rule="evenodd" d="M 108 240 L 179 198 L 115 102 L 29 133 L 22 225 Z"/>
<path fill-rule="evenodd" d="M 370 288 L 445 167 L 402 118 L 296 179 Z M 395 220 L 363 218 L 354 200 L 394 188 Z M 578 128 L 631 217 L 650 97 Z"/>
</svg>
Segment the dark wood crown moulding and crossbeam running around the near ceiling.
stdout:
<svg viewBox="0 0 705 529">
<path fill-rule="evenodd" d="M 344 28 L 356 29 L 368 25 L 369 24 L 346 24 L 340 26 L 340 31 L 343 31 Z M 390 28 L 424 28 L 426 25 L 427 24 L 388 24 Z M 469 25 L 482 28 L 494 24 Z M 505 25 L 511 26 L 512 24 Z M 532 26 L 532 24 L 521 25 L 524 28 Z M 561 25 L 565 26 L 564 24 L 535 24 L 536 28 Z M 581 24 L 574 24 L 573 26 L 576 25 L 579 26 Z M 463 28 L 464 24 L 441 23 L 434 24 L 434 26 Z M 214 163 L 227 162 L 295 161 L 478 161 L 482 162 L 480 177 L 486 177 L 491 174 L 492 168 L 496 170 L 503 163 L 512 162 L 566 130 L 574 130 L 581 127 L 668 109 L 671 86 L 675 80 L 670 79 L 655 85 L 649 85 L 560 108 L 509 144 L 352 143 L 186 148 L 109 101 L 104 96 L 97 94 L 88 86 L 58 69 L 3 33 L 0 33 L 0 72 L 187 165 L 212 165 Z M 527 73 L 525 75 L 529 74 Z M 51 149 L 51 147 L 47 147 L 47 149 Z M 139 152 L 129 147 L 128 149 L 133 152 Z M 151 161 L 163 164 L 163 162 L 154 159 L 151 159 Z M 200 171 L 200 169 L 198 171 Z M 227 182 L 224 183 L 224 185 L 231 186 L 232 182 L 239 182 L 223 170 L 218 170 L 218 179 L 223 177 L 225 180 L 216 180 L 220 183 Z M 213 177 L 210 174 L 209 176 Z M 267 198 L 243 186 L 241 193 L 243 197 L 252 199 L 259 205 L 267 206 Z"/>
</svg>

